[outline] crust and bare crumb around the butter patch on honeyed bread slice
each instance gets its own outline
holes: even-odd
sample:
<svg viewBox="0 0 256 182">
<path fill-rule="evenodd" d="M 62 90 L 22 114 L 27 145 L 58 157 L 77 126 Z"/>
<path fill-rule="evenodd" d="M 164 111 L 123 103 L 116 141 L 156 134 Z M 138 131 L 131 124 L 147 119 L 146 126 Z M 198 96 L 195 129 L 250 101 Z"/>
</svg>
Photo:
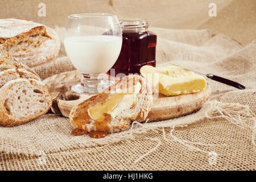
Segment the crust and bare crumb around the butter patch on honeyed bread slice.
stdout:
<svg viewBox="0 0 256 182">
<path fill-rule="evenodd" d="M 95 121 L 90 117 L 88 113 L 89 106 L 94 106 L 97 103 L 103 103 L 109 96 L 110 93 L 115 92 L 117 89 L 125 89 L 123 85 L 128 84 L 129 80 L 133 80 L 134 85 L 139 82 L 141 84 L 141 90 L 137 94 L 137 102 L 131 108 L 123 110 L 121 114 L 115 118 L 111 118 L 109 115 L 106 117 L 104 122 Z M 111 92 L 110 92 L 111 91 Z M 69 118 L 71 125 L 74 128 L 86 130 L 86 131 L 105 131 L 108 133 L 119 132 L 129 128 L 132 121 L 145 121 L 148 112 L 152 107 L 152 91 L 150 86 L 147 84 L 143 77 L 138 75 L 129 75 L 122 78 L 116 84 L 109 86 L 104 92 L 99 93 L 95 96 L 90 97 L 88 100 L 81 102 L 80 104 L 73 107 L 70 112 Z M 125 113 L 125 111 L 127 113 Z M 77 117 L 83 117 L 81 121 Z M 106 121 L 109 120 L 109 121 Z"/>
</svg>

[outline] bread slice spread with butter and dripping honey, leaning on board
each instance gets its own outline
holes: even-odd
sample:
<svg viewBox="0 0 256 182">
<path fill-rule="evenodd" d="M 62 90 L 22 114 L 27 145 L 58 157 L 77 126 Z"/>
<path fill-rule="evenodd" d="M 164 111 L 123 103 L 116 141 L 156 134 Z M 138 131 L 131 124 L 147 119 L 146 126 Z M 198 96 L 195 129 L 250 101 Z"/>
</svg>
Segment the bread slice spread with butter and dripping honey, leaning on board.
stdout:
<svg viewBox="0 0 256 182">
<path fill-rule="evenodd" d="M 69 118 L 75 129 L 113 133 L 126 130 L 131 121 L 145 121 L 151 107 L 150 86 L 130 75 L 73 107 Z"/>
</svg>

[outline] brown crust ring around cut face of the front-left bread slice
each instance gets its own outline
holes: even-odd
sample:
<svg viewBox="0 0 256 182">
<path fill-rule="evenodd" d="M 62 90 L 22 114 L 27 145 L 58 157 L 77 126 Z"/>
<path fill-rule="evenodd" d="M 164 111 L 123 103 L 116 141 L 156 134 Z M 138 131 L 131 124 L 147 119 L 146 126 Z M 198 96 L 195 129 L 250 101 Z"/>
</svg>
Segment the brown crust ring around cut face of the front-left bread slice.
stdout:
<svg viewBox="0 0 256 182">
<path fill-rule="evenodd" d="M 30 84 L 30 85 L 36 85 L 40 89 L 44 91 L 44 94 L 46 96 L 46 101 L 49 102 L 47 108 L 43 109 L 42 111 L 39 111 L 38 113 L 34 115 L 28 115 L 27 117 L 23 118 L 16 118 L 15 116 L 12 116 L 8 114 L 6 108 L 5 108 L 5 101 L 6 101 L 6 96 L 9 90 L 15 86 L 15 84 L 23 82 L 24 84 Z M 18 78 L 16 80 L 12 80 L 7 82 L 2 88 L 0 89 L 0 124 L 2 126 L 16 126 L 20 125 L 23 123 L 26 123 L 28 121 L 31 121 L 32 119 L 38 118 L 43 114 L 46 114 L 47 111 L 51 108 L 52 100 L 51 97 L 49 96 L 49 92 L 47 90 L 47 87 L 42 84 L 42 82 L 34 79 L 22 79 Z"/>
</svg>

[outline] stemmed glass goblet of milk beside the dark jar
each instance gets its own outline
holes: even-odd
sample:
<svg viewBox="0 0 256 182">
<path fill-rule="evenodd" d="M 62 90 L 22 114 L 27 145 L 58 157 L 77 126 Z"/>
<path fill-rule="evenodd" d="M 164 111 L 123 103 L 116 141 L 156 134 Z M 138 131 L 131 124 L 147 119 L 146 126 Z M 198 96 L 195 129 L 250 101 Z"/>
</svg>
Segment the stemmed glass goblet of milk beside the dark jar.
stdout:
<svg viewBox="0 0 256 182">
<path fill-rule="evenodd" d="M 117 61 L 122 47 L 117 16 L 106 13 L 69 15 L 64 46 L 72 64 L 83 76 L 72 90 L 77 93 L 101 92 L 109 86 L 105 73 Z"/>
</svg>

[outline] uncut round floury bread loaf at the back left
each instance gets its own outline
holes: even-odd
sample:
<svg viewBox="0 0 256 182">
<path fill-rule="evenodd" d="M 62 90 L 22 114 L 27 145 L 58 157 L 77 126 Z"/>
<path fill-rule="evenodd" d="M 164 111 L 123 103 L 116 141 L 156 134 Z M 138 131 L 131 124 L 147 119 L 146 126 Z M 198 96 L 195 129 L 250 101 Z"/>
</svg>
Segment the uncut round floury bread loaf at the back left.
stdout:
<svg viewBox="0 0 256 182">
<path fill-rule="evenodd" d="M 35 67 L 59 54 L 60 41 L 56 32 L 43 24 L 20 19 L 0 19 L 0 49 L 12 61 L 23 61 Z"/>
</svg>

